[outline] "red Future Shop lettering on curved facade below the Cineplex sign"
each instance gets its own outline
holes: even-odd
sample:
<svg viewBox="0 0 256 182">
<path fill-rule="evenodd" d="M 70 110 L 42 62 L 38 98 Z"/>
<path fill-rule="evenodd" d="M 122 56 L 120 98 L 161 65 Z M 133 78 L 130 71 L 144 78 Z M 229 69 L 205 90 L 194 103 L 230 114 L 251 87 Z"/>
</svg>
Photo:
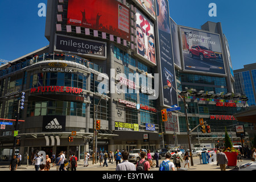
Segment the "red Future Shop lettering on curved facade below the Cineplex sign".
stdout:
<svg viewBox="0 0 256 182">
<path fill-rule="evenodd" d="M 82 89 L 70 86 L 38 86 L 31 88 L 30 93 L 35 92 L 66 92 L 66 93 L 82 93 Z"/>
</svg>

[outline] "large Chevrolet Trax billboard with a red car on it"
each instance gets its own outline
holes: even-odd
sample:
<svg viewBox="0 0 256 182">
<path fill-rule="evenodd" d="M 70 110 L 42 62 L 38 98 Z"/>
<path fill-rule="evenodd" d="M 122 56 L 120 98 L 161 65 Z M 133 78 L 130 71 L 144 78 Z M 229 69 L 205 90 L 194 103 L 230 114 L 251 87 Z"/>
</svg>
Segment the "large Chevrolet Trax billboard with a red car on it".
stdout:
<svg viewBox="0 0 256 182">
<path fill-rule="evenodd" d="M 184 71 L 225 75 L 220 35 L 180 27 Z"/>
</svg>

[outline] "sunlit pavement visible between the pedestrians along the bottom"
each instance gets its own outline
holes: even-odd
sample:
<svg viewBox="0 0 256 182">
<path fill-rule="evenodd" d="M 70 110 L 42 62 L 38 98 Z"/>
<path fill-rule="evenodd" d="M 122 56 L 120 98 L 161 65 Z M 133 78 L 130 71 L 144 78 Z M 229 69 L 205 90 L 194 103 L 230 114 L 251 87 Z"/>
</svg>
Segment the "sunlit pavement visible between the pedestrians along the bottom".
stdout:
<svg viewBox="0 0 256 182">
<path fill-rule="evenodd" d="M 171 160 L 172 161 L 172 160 Z M 242 159 L 242 162 L 237 162 L 237 167 L 239 167 L 241 164 L 250 162 L 250 159 Z M 159 164 L 162 162 L 162 160 L 159 160 Z M 220 171 L 220 166 L 217 166 L 216 162 L 209 163 L 209 164 L 200 164 L 200 161 L 196 160 L 194 162 L 193 166 L 186 166 L 187 168 L 184 168 L 184 162 L 181 163 L 181 168 L 179 169 L 180 171 Z M 89 166 L 84 167 L 84 161 L 80 160 L 77 162 L 77 171 L 115 171 L 115 162 L 109 163 L 108 167 L 103 167 L 102 164 L 100 166 L 99 163 L 92 164 L 92 160 L 89 160 Z M 150 171 L 158 171 L 159 168 L 152 168 Z M 3 165 L 0 166 L 0 171 L 10 171 L 8 165 Z M 35 171 L 35 166 L 29 164 L 22 164 L 20 167 L 17 167 L 17 171 Z M 51 164 L 51 169 L 50 171 L 56 171 L 56 167 L 52 167 Z M 177 171 L 177 168 L 175 168 L 175 171 Z M 226 168 L 226 171 L 238 171 L 238 168 L 235 167 L 230 167 Z"/>
</svg>

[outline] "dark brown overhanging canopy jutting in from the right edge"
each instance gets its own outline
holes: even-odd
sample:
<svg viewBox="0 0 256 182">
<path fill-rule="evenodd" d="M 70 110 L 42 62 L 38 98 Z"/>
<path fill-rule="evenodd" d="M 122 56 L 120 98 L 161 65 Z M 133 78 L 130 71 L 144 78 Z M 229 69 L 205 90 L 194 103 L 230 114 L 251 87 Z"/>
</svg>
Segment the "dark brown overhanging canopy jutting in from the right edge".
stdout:
<svg viewBox="0 0 256 182">
<path fill-rule="evenodd" d="M 256 106 L 250 106 L 248 110 L 233 115 L 237 121 L 256 123 Z"/>
</svg>

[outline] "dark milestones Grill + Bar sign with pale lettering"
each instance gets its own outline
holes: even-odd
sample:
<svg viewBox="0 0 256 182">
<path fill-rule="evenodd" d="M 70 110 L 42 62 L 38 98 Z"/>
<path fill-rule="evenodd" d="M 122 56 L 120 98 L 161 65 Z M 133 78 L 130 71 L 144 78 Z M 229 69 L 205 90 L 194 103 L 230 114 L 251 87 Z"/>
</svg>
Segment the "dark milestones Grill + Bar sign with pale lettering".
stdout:
<svg viewBox="0 0 256 182">
<path fill-rule="evenodd" d="M 55 35 L 54 51 L 106 59 L 105 42 L 75 38 L 67 35 Z"/>
</svg>

